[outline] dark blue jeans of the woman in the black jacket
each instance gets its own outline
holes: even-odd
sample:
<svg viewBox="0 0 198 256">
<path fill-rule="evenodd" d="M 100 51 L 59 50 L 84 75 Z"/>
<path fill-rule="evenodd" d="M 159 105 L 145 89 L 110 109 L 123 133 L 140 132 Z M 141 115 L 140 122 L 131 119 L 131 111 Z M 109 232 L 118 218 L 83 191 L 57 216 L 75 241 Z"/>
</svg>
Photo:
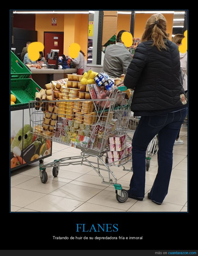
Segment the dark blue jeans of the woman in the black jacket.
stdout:
<svg viewBox="0 0 198 256">
<path fill-rule="evenodd" d="M 133 176 L 130 182 L 130 196 L 144 197 L 146 150 L 150 141 L 158 134 L 158 171 L 150 198 L 157 203 L 163 202 L 171 177 L 173 145 L 186 114 L 187 108 L 175 113 L 140 118 L 132 141 Z"/>
</svg>

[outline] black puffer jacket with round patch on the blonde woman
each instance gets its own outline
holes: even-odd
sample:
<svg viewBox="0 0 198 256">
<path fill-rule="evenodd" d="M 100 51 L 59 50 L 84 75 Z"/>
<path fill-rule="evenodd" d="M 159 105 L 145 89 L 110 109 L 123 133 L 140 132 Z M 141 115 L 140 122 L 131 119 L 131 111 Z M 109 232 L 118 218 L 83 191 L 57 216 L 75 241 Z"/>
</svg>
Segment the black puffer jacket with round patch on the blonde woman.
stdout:
<svg viewBox="0 0 198 256">
<path fill-rule="evenodd" d="M 184 89 L 180 82 L 180 59 L 178 46 L 165 43 L 167 50 L 159 51 L 151 46 L 153 41 L 142 42 L 129 64 L 124 85 L 134 88 L 132 111 L 175 109 L 182 103 Z"/>
</svg>

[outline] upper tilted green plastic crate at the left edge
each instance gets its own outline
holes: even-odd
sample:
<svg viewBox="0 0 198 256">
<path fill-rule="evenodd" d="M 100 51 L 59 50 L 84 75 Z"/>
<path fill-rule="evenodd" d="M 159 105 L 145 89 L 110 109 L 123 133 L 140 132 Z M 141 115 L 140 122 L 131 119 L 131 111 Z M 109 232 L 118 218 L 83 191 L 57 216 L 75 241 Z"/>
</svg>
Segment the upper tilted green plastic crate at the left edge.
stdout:
<svg viewBox="0 0 198 256">
<path fill-rule="evenodd" d="M 10 74 L 12 79 L 29 78 L 31 71 L 22 61 L 11 51 L 10 55 Z"/>
</svg>

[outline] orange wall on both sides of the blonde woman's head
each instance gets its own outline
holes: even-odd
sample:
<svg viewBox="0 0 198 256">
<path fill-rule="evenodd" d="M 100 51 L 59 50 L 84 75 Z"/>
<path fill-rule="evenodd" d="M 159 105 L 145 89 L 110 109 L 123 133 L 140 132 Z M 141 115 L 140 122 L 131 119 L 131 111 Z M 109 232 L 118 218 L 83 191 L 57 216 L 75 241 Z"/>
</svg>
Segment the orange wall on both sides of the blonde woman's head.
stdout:
<svg viewBox="0 0 198 256">
<path fill-rule="evenodd" d="M 147 23 L 148 18 L 150 18 L 152 14 L 147 13 L 137 13 L 135 15 L 135 28 L 134 35 L 135 38 L 141 38 L 144 32 L 145 25 Z M 173 26 L 173 16 L 174 14 L 163 14 L 167 21 L 167 34 L 169 34 L 169 39 L 172 38 L 172 26 Z"/>
</svg>

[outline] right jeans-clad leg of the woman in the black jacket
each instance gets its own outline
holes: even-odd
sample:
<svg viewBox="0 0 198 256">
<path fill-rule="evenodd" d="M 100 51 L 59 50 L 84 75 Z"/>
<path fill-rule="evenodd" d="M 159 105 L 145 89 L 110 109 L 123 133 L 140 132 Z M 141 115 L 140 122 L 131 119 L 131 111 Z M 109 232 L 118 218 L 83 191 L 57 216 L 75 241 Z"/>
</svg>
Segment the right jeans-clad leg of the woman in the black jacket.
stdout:
<svg viewBox="0 0 198 256">
<path fill-rule="evenodd" d="M 158 171 L 150 191 L 150 199 L 161 204 L 168 193 L 168 186 L 172 171 L 173 145 L 175 136 L 186 117 L 187 110 L 180 110 L 174 114 L 173 122 L 158 132 Z M 169 115 L 170 115 L 169 114 Z M 168 139 L 167 139 L 168 138 Z"/>
</svg>

